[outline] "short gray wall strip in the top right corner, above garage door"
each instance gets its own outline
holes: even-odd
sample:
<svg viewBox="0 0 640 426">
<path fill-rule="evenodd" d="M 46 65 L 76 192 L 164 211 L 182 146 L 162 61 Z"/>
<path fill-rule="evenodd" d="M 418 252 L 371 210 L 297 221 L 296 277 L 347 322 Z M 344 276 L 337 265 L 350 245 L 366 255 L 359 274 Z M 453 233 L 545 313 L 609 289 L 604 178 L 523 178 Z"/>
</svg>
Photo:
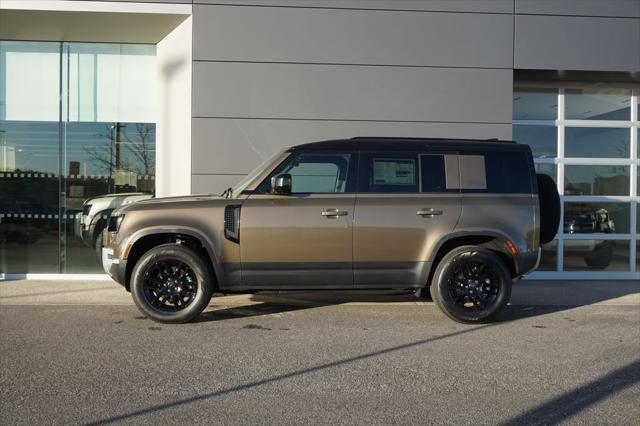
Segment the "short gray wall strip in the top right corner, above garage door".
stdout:
<svg viewBox="0 0 640 426">
<path fill-rule="evenodd" d="M 516 0 L 516 13 L 640 17 L 640 0 Z"/>
</svg>

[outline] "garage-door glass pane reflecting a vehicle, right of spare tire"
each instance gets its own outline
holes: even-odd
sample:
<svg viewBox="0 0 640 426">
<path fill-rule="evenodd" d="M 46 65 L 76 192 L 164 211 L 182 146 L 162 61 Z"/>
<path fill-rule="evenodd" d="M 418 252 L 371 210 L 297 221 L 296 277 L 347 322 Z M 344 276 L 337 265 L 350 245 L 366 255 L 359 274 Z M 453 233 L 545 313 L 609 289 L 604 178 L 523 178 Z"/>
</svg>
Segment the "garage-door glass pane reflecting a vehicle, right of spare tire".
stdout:
<svg viewBox="0 0 640 426">
<path fill-rule="evenodd" d="M 629 203 L 564 203 L 564 233 L 628 234 Z"/>
</svg>

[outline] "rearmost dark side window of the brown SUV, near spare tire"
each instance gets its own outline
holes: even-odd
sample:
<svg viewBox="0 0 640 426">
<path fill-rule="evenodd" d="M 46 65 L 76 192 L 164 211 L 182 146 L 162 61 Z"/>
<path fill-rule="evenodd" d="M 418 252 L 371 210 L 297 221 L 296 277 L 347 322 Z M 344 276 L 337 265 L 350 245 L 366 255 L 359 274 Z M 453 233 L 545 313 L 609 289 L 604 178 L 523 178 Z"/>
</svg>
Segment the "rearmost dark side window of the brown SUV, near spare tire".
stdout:
<svg viewBox="0 0 640 426">
<path fill-rule="evenodd" d="M 529 159 L 524 152 L 490 152 L 485 155 L 487 190 L 499 194 L 531 193 Z"/>
</svg>

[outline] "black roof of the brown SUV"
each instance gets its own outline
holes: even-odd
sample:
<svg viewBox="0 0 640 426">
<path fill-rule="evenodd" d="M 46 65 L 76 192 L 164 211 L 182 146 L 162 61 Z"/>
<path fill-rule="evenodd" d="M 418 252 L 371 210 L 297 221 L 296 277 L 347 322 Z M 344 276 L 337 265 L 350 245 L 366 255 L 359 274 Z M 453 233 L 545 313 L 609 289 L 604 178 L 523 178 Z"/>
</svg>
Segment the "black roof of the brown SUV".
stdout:
<svg viewBox="0 0 640 426">
<path fill-rule="evenodd" d="M 311 142 L 291 147 L 292 151 L 304 150 L 393 150 L 419 151 L 423 149 L 464 149 L 528 151 L 528 145 L 498 139 L 450 139 L 450 138 L 396 138 L 360 136 L 351 139 L 333 139 Z"/>
</svg>

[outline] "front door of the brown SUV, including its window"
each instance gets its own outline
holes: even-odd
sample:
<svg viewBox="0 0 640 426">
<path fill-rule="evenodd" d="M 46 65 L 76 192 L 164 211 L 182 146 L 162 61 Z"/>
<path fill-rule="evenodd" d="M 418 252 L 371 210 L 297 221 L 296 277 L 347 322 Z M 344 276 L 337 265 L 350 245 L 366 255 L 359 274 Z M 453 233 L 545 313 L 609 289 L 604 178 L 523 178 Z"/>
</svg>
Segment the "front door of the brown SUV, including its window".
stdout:
<svg viewBox="0 0 640 426">
<path fill-rule="evenodd" d="M 355 155 L 294 152 L 272 176 L 291 175 L 291 194 L 270 178 L 242 204 L 240 256 L 245 288 L 353 285 Z"/>
</svg>

